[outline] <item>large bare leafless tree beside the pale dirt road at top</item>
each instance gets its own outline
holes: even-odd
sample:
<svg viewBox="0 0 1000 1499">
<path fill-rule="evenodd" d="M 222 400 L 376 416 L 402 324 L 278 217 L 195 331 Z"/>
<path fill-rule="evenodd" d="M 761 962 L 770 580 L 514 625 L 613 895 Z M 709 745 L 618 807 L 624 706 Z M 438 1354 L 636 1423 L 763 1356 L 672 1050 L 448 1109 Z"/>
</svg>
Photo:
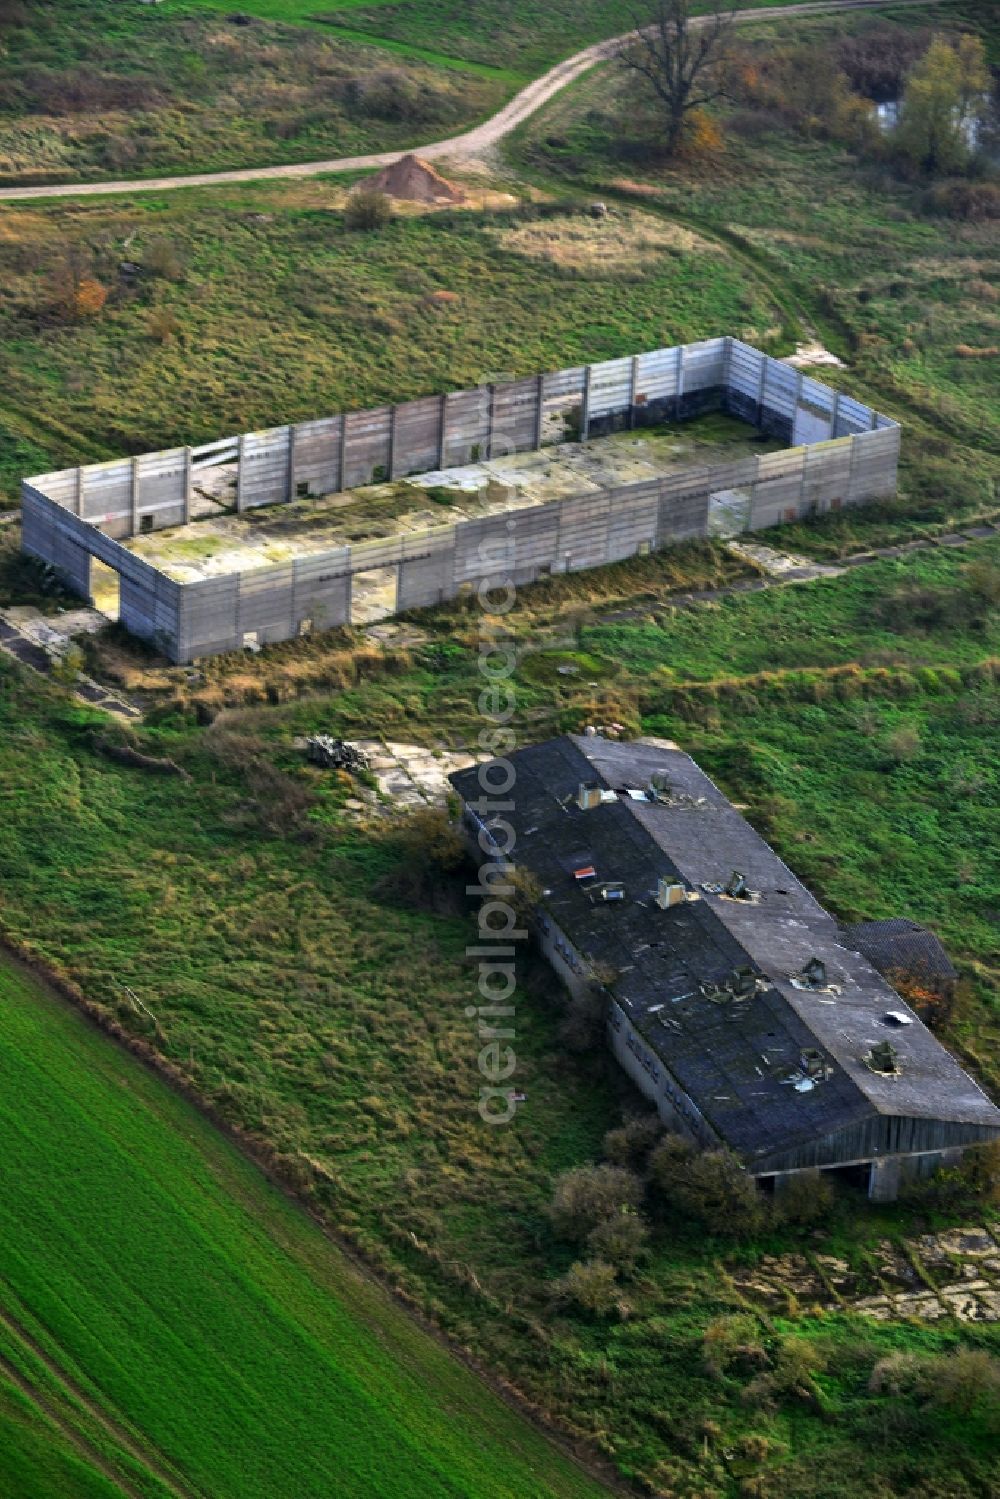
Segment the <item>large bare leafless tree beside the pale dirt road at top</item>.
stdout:
<svg viewBox="0 0 1000 1499">
<path fill-rule="evenodd" d="M 711 15 L 691 15 L 690 0 L 655 0 L 636 15 L 636 36 L 622 52 L 625 67 L 645 79 L 663 114 L 667 154 L 673 156 L 693 109 L 726 94 L 735 10 L 717 0 Z"/>
</svg>

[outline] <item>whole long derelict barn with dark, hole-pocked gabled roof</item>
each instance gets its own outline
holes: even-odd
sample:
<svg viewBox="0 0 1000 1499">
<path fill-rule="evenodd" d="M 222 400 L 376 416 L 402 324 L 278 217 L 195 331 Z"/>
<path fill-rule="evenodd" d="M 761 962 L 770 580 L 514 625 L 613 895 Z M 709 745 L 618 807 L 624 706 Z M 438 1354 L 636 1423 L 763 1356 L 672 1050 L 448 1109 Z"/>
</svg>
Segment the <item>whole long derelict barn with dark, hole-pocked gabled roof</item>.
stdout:
<svg viewBox="0 0 1000 1499">
<path fill-rule="evenodd" d="M 577 997 L 606 994 L 612 1051 L 670 1127 L 762 1181 L 843 1171 L 882 1201 L 1000 1139 L 1000 1109 L 676 745 L 565 735 L 510 761 L 541 949 Z M 480 767 L 451 782 L 477 857 L 501 857 Z"/>
</svg>

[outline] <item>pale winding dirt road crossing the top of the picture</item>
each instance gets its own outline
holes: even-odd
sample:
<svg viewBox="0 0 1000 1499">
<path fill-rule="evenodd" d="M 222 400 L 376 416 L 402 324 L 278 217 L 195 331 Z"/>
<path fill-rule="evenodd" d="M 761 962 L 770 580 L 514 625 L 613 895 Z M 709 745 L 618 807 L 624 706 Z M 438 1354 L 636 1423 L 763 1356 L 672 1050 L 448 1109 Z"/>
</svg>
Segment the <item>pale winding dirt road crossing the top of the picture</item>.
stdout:
<svg viewBox="0 0 1000 1499">
<path fill-rule="evenodd" d="M 789 15 L 823 15 L 831 10 L 871 10 L 886 0 L 810 0 L 807 4 L 768 6 L 757 10 L 738 10 L 739 21 L 766 21 Z M 930 0 L 894 0 L 895 4 L 928 4 Z M 703 25 L 708 18 L 696 19 Z M 453 160 L 478 156 L 510 135 L 523 120 L 528 120 L 555 94 L 567 88 L 582 73 L 597 63 L 604 63 L 621 52 L 634 33 L 613 36 L 597 42 L 574 57 L 567 57 L 541 78 L 522 88 L 519 94 L 483 124 L 453 135 L 445 141 L 430 141 L 414 145 L 424 157 L 447 156 Z M 282 177 L 319 177 L 324 172 L 375 171 L 399 160 L 403 151 L 381 151 L 372 156 L 339 156 L 325 162 L 300 162 L 291 166 L 246 166 L 229 172 L 195 172 L 187 177 L 136 177 L 108 183 L 46 183 L 43 187 L 0 187 L 0 202 L 19 202 L 30 198 L 93 198 L 111 193 L 174 192 L 180 187 L 213 187 L 225 183 L 270 181 Z"/>
</svg>

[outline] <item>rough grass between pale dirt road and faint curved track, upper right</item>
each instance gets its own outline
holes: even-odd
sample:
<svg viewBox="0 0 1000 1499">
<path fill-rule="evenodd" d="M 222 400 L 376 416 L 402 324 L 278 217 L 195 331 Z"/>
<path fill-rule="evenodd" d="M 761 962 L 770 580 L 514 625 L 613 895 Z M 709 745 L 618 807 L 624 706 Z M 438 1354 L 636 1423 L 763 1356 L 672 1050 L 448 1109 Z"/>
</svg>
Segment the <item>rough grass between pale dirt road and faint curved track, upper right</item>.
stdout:
<svg viewBox="0 0 1000 1499">
<path fill-rule="evenodd" d="M 970 6 L 888 10 L 909 24 L 961 18 Z M 877 18 L 799 21 L 796 42 L 831 48 Z M 774 27 L 747 40 L 774 46 Z M 585 76 L 529 120 L 511 153 L 529 174 L 574 192 L 642 199 L 717 235 L 751 274 L 766 279 L 799 324 L 811 324 L 850 369 L 823 379 L 865 390 L 883 409 L 937 429 L 951 442 L 996 454 L 1000 256 L 996 220 L 928 213 L 925 184 L 906 183 L 855 150 L 810 139 L 750 111 L 720 114 L 724 144 L 706 162 L 667 166 L 627 117 L 607 69 Z M 729 129 L 727 129 L 729 124 Z M 877 246 L 877 255 L 873 255 Z M 952 469 L 955 465 L 951 465 Z"/>
</svg>

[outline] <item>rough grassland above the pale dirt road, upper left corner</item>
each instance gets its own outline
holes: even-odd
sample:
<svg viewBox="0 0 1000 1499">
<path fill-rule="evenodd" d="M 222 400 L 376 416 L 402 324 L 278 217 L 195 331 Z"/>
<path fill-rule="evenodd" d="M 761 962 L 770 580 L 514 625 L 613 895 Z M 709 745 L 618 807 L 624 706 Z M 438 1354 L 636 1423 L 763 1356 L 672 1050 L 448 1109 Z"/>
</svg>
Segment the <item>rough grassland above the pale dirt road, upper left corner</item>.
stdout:
<svg viewBox="0 0 1000 1499">
<path fill-rule="evenodd" d="M 292 15 L 238 24 L 231 6 L 7 10 L 0 180 L 15 186 L 403 148 L 492 114 L 519 82 L 286 24 Z"/>
</svg>

